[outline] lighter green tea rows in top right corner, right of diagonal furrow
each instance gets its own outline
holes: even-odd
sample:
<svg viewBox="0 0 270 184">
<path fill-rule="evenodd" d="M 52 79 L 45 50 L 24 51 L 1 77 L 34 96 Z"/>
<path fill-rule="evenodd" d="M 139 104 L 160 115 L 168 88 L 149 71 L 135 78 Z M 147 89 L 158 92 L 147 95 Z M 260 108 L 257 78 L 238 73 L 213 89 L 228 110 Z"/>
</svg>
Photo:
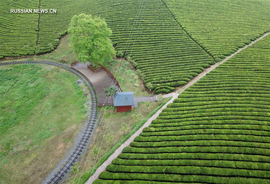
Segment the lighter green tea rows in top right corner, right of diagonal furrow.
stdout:
<svg viewBox="0 0 270 184">
<path fill-rule="evenodd" d="M 270 31 L 270 3 L 163 0 L 188 35 L 216 62 Z"/>
</svg>

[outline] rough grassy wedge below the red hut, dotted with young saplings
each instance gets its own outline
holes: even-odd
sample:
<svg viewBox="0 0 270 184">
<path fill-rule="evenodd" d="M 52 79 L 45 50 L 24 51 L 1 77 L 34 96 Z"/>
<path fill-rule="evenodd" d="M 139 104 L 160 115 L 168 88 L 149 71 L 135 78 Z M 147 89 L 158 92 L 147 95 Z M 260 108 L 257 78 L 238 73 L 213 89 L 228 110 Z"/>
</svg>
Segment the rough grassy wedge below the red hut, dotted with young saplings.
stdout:
<svg viewBox="0 0 270 184">
<path fill-rule="evenodd" d="M 151 102 L 149 105 L 149 109 L 147 110 L 147 107 L 144 103 L 139 103 L 138 108 L 134 108 L 131 112 L 126 113 L 116 113 L 116 109 L 112 109 L 109 107 L 107 110 L 99 108 L 101 112 L 101 117 L 103 117 L 102 122 L 99 122 L 97 124 L 97 128 L 95 129 L 95 132 L 93 135 L 96 135 L 96 140 L 94 141 L 94 138 L 89 143 L 89 147 L 87 151 L 85 152 L 85 158 L 82 160 L 82 166 L 79 168 L 79 175 L 76 176 L 75 183 L 84 183 L 87 181 L 87 179 L 91 176 L 92 170 L 93 173 L 99 167 L 114 151 L 117 149 L 125 140 L 127 140 L 137 129 L 139 129 L 153 114 L 155 114 L 160 107 L 164 105 L 167 101 L 169 101 L 170 98 L 166 98 L 163 101 L 156 101 Z M 148 111 L 148 112 L 147 112 Z M 112 116 L 110 118 L 110 115 L 112 113 Z M 138 114 L 138 118 L 134 119 L 132 115 Z M 100 117 L 100 119 L 101 119 Z M 104 136 L 104 131 L 106 129 L 108 120 L 110 119 L 108 129 L 105 133 L 104 142 L 101 146 L 101 140 Z M 128 126 L 127 129 L 124 131 L 121 131 L 121 124 L 122 122 L 125 122 Z M 101 123 L 101 124 L 100 124 Z M 100 126 L 98 130 L 98 126 Z M 114 139 L 112 142 L 106 142 L 106 137 L 108 134 L 113 134 Z M 94 143 L 93 143 L 94 142 Z M 93 148 L 90 150 L 91 146 Z M 97 156 L 93 150 L 98 150 L 101 146 L 101 150 L 99 155 Z M 88 156 L 89 154 L 89 156 Z M 86 161 L 86 158 L 88 156 L 88 159 Z M 97 158 L 97 162 L 95 163 L 95 159 Z M 83 166 L 85 165 L 85 168 Z M 95 168 L 93 169 L 93 167 Z M 82 177 L 79 180 L 80 174 L 83 172 Z M 70 177 L 67 179 L 67 183 L 72 183 L 73 179 L 75 177 L 74 172 L 70 173 Z"/>
</svg>

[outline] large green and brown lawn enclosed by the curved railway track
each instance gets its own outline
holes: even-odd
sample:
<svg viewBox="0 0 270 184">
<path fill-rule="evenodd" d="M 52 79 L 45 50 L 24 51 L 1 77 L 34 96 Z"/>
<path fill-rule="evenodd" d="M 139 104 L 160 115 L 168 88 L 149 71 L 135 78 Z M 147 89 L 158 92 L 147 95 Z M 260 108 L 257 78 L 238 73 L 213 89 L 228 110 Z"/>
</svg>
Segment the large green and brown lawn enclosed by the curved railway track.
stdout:
<svg viewBox="0 0 270 184">
<path fill-rule="evenodd" d="M 88 100 L 76 80 L 54 66 L 0 67 L 0 183 L 42 182 L 73 145 Z"/>
</svg>

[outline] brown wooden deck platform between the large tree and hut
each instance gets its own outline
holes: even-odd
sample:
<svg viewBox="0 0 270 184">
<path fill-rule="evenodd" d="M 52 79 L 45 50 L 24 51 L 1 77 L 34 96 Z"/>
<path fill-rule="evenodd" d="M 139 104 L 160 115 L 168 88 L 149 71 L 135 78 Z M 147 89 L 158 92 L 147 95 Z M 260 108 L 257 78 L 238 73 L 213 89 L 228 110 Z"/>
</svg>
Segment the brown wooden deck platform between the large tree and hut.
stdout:
<svg viewBox="0 0 270 184">
<path fill-rule="evenodd" d="M 109 76 L 107 71 L 101 69 L 99 71 L 93 72 L 87 68 L 87 64 L 89 63 L 82 64 L 78 62 L 72 67 L 82 72 L 82 74 L 84 74 L 91 81 L 98 95 L 98 103 L 112 102 L 111 97 L 107 97 L 106 99 L 104 89 L 109 88 L 111 85 L 116 89 L 119 89 L 119 87 L 114 83 L 113 78 Z"/>
</svg>

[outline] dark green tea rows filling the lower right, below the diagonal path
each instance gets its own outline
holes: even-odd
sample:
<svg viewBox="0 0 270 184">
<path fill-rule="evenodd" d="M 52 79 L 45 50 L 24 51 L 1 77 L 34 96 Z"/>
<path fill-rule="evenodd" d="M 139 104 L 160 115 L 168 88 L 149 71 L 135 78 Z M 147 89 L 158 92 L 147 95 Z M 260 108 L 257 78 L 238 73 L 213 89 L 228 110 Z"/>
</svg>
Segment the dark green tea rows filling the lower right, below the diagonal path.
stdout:
<svg viewBox="0 0 270 184">
<path fill-rule="evenodd" d="M 270 36 L 169 104 L 97 183 L 269 183 Z"/>
</svg>

